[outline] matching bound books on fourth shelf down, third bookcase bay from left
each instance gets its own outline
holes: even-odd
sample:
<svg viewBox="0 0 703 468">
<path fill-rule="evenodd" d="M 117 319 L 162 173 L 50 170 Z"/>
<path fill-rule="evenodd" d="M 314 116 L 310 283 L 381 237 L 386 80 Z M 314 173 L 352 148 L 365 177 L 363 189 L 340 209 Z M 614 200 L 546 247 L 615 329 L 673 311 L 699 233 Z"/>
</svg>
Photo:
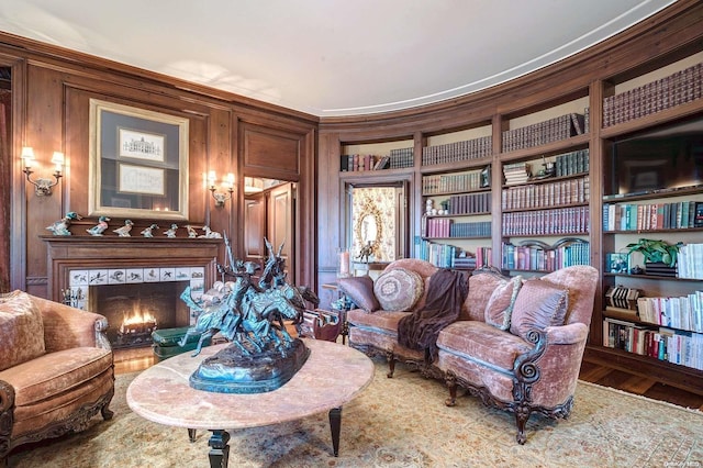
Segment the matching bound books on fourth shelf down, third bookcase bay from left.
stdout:
<svg viewBox="0 0 703 468">
<path fill-rule="evenodd" d="M 503 213 L 502 223 L 506 236 L 585 234 L 589 207 Z"/>
</svg>

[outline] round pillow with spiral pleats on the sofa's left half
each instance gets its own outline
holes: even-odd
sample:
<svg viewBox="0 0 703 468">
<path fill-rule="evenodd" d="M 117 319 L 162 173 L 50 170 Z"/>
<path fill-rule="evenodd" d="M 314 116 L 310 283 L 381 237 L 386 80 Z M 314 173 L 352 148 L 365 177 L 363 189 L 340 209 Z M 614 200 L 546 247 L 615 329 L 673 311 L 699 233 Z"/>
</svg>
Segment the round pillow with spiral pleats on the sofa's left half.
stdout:
<svg viewBox="0 0 703 468">
<path fill-rule="evenodd" d="M 423 294 L 424 285 L 415 271 L 394 268 L 377 278 L 373 292 L 384 311 L 410 311 Z"/>
</svg>

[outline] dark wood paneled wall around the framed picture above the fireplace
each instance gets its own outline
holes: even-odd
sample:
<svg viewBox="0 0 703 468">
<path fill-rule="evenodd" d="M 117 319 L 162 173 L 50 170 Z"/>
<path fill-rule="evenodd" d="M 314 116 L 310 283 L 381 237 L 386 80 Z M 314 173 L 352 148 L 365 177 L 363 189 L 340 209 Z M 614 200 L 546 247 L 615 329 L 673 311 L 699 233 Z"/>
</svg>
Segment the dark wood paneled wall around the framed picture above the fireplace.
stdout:
<svg viewBox="0 0 703 468">
<path fill-rule="evenodd" d="M 0 66 L 12 68 L 13 91 L 12 148 L 0 155 L 3 167 L 12 168 L 12 189 L 0 200 L 12 207 L 11 229 L 2 233 L 10 238 L 11 254 L 0 261 L 0 275 L 10 289 L 47 297 L 47 254 L 40 236 L 51 234 L 45 227 L 67 211 L 88 214 L 92 98 L 188 119 L 188 221 L 226 231 L 235 256 L 243 254 L 244 245 L 242 183 L 232 202 L 215 208 L 203 175 L 214 169 L 235 172 L 239 179 L 247 175 L 298 182 L 305 197 L 299 200 L 298 229 L 304 239 L 298 249 L 299 278 L 313 285 L 315 116 L 1 33 Z M 19 155 L 25 145 L 34 147 L 38 159 L 35 176 L 52 172 L 48 160 L 54 151 L 66 154 L 65 177 L 51 197 L 36 197 L 24 181 Z M 122 221 L 113 219 L 111 225 Z M 138 235 L 153 220 L 133 221 Z M 71 231 L 80 235 L 94 222 L 86 218 Z"/>
</svg>

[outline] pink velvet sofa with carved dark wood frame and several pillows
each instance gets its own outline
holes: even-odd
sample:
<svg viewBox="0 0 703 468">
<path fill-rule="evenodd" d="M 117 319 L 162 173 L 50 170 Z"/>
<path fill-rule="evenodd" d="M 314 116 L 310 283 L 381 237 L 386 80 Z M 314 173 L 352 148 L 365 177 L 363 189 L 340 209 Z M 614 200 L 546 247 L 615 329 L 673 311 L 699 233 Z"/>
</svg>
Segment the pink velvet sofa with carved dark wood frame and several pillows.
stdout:
<svg viewBox="0 0 703 468">
<path fill-rule="evenodd" d="M 567 417 L 573 405 L 585 348 L 598 270 L 572 266 L 538 278 L 506 277 L 479 269 L 458 319 L 436 337 L 436 354 L 403 346 L 400 321 L 419 314 L 437 268 L 419 259 L 391 263 L 376 280 L 341 278 L 339 289 L 357 305 L 348 311 L 349 344 L 382 355 L 392 377 L 397 361 L 448 386 L 447 405 L 464 388 L 481 401 L 515 414 L 516 441 L 526 442 L 532 413 Z M 468 274 L 467 274 L 468 275 Z"/>
</svg>

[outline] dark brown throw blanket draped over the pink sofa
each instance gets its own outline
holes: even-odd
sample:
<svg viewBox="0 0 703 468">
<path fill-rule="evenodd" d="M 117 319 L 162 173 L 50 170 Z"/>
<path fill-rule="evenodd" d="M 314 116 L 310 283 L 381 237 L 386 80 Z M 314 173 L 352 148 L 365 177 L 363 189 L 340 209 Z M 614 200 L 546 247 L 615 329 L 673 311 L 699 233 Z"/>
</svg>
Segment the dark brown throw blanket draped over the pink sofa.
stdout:
<svg viewBox="0 0 703 468">
<path fill-rule="evenodd" d="M 410 349 L 428 349 L 437 357 L 437 336 L 445 326 L 459 317 L 469 283 L 460 271 L 439 269 L 427 286 L 427 300 L 422 309 L 398 322 L 398 342 Z"/>
</svg>

